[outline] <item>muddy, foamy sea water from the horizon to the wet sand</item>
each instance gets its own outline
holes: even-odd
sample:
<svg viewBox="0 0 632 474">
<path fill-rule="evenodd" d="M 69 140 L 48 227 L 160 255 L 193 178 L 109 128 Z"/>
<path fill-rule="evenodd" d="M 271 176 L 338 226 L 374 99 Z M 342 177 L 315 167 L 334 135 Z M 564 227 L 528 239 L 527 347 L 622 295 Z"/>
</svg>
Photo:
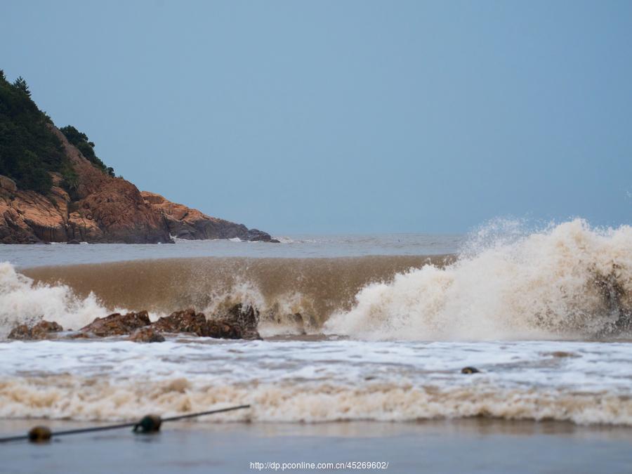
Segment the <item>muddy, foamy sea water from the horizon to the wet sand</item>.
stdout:
<svg viewBox="0 0 632 474">
<path fill-rule="evenodd" d="M 2 341 L 4 419 L 133 420 L 249 403 L 201 423 L 483 416 L 632 426 L 628 226 L 0 246 L 0 260 L 3 336 L 42 317 L 78 329 L 115 309 L 156 319 L 193 306 L 211 317 L 242 302 L 260 312 L 265 339 Z M 461 374 L 466 366 L 480 373 Z"/>
</svg>

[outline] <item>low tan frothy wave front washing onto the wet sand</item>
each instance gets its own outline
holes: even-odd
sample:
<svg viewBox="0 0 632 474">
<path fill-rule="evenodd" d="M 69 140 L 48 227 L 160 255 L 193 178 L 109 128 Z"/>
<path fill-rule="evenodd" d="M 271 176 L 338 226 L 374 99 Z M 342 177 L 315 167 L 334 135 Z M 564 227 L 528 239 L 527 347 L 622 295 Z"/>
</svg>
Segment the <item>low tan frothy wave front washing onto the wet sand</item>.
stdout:
<svg viewBox="0 0 632 474">
<path fill-rule="evenodd" d="M 165 382 L 112 383 L 74 376 L 0 381 L 0 417 L 136 421 L 138 414 L 173 416 L 209 407 L 251 404 L 247 411 L 213 421 L 416 421 L 486 416 L 557 420 L 579 424 L 632 425 L 629 396 L 573 394 L 555 390 L 411 388 L 375 383 L 361 388 L 256 383 L 195 386 L 185 378 Z"/>
</svg>

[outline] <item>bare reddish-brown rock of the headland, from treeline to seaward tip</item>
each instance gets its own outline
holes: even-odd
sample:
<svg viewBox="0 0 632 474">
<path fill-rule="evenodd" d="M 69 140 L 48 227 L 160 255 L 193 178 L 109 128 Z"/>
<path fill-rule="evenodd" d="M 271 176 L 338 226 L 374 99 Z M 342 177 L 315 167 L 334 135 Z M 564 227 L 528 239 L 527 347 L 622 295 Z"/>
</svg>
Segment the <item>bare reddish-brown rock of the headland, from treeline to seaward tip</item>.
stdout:
<svg viewBox="0 0 632 474">
<path fill-rule="evenodd" d="M 172 242 L 170 235 L 185 239 L 271 240 L 265 232 L 206 216 L 160 195 L 141 193 L 129 181 L 107 176 L 68 143 L 63 133 L 50 127 L 77 172 L 74 199 L 59 186 L 61 177 L 57 173 L 51 173 L 53 187 L 46 196 L 18 190 L 13 180 L 0 176 L 1 243 L 77 240 L 154 244 Z"/>
</svg>

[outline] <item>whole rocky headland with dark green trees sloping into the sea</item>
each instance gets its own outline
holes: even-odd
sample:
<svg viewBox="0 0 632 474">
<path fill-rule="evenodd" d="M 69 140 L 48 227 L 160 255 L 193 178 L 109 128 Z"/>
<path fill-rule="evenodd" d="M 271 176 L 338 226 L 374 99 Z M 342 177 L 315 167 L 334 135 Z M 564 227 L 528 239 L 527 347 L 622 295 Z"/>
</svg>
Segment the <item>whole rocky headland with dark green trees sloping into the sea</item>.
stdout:
<svg viewBox="0 0 632 474">
<path fill-rule="evenodd" d="M 261 240 L 266 232 L 141 193 L 73 126 L 55 127 L 26 81 L 0 71 L 0 243 Z"/>
</svg>

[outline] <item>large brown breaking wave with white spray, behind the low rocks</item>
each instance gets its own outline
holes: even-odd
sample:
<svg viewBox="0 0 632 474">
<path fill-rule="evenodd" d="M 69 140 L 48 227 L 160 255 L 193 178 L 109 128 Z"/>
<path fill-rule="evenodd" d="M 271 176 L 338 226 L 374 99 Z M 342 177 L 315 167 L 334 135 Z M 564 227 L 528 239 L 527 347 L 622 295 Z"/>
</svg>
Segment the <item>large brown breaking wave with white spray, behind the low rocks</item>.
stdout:
<svg viewBox="0 0 632 474">
<path fill-rule="evenodd" d="M 629 329 L 632 228 L 487 225 L 459 256 L 178 258 L 15 272 L 0 264 L 0 332 L 44 317 L 77 329 L 117 308 L 152 318 L 235 302 L 261 334 L 368 339 L 590 338 Z"/>
</svg>

